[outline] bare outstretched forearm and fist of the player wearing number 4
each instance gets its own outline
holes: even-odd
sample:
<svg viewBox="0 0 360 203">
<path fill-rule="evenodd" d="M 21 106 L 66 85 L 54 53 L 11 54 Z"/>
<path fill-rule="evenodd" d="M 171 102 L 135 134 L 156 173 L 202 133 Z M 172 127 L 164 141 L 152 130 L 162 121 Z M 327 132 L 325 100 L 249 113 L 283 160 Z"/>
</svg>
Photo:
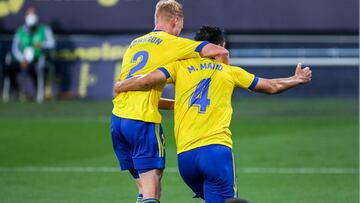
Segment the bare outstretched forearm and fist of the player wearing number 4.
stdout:
<svg viewBox="0 0 360 203">
<path fill-rule="evenodd" d="M 258 78 L 254 91 L 266 94 L 278 94 L 300 84 L 311 81 L 312 71 L 309 67 L 301 68 L 301 63 L 296 67 L 295 74 L 288 78 L 265 79 Z"/>
</svg>

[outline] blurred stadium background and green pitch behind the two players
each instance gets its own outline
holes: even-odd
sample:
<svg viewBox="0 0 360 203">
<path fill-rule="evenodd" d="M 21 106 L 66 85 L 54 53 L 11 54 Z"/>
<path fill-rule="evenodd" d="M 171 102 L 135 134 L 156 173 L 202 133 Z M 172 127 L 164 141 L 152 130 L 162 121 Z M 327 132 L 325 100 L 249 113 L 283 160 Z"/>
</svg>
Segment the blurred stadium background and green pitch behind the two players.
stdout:
<svg viewBox="0 0 360 203">
<path fill-rule="evenodd" d="M 358 202 L 359 1 L 179 2 L 182 36 L 224 28 L 232 65 L 266 78 L 291 76 L 298 62 L 313 71 L 310 84 L 280 95 L 234 92 L 239 194 Z M 156 3 L 0 1 L 0 202 L 133 202 L 112 152 L 111 93 L 127 46 L 153 29 Z M 163 115 L 163 201 L 200 202 L 176 173 L 173 114 Z"/>
</svg>

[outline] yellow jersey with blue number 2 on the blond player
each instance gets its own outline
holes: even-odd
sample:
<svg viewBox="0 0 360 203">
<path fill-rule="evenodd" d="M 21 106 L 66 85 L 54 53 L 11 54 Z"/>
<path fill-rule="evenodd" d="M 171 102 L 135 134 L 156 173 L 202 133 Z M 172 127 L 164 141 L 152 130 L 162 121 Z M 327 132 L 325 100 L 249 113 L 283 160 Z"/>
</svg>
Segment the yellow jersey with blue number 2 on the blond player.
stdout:
<svg viewBox="0 0 360 203">
<path fill-rule="evenodd" d="M 124 54 L 119 80 L 147 74 L 165 64 L 200 57 L 208 42 L 193 41 L 154 30 L 133 40 Z M 120 93 L 113 99 L 112 113 L 118 117 L 160 123 L 158 103 L 163 86 L 149 91 Z"/>
</svg>

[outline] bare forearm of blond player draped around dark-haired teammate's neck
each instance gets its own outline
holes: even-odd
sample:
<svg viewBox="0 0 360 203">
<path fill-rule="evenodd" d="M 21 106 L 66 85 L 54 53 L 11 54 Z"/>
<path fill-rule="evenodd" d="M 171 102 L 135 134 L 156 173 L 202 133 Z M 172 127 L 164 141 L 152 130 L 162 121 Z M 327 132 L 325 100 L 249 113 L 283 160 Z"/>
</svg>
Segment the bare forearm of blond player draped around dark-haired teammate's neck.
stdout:
<svg viewBox="0 0 360 203">
<path fill-rule="evenodd" d="M 200 56 L 204 58 L 215 58 L 225 64 L 229 64 L 229 51 L 222 46 L 206 44 L 200 51 Z"/>
</svg>

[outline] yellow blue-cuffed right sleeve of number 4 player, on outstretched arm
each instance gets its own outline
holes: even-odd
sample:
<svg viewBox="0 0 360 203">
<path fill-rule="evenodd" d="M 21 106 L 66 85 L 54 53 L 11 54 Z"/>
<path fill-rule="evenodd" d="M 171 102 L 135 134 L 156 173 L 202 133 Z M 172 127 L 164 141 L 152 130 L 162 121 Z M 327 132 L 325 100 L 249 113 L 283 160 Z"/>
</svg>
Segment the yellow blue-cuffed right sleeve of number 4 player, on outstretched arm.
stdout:
<svg viewBox="0 0 360 203">
<path fill-rule="evenodd" d="M 244 89 L 254 90 L 259 81 L 258 77 L 236 66 L 230 66 L 230 70 L 236 86 Z"/>
</svg>

